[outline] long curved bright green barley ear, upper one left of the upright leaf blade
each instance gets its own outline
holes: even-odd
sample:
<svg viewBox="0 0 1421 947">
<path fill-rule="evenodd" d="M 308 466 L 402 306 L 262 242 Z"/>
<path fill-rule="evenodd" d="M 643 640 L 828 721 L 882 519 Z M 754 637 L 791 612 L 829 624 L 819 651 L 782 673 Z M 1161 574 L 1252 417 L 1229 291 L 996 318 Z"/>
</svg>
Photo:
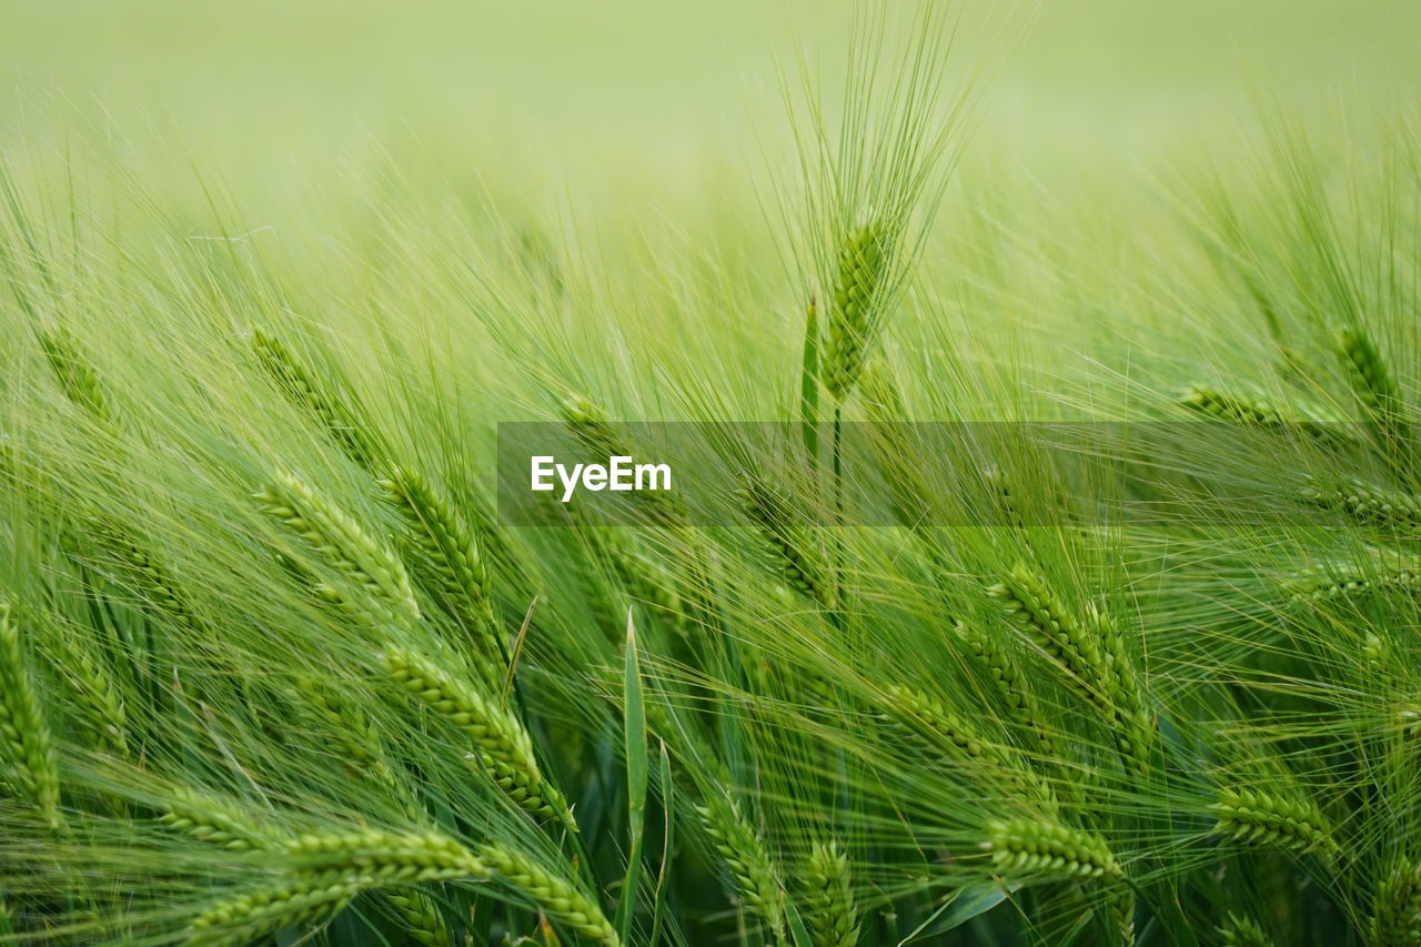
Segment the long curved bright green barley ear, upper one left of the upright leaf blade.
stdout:
<svg viewBox="0 0 1421 947">
<path fill-rule="evenodd" d="M 517 718 L 421 654 L 392 646 L 381 661 L 405 691 L 470 739 L 473 756 L 509 799 L 577 830 L 567 801 L 539 771 L 533 741 Z"/>
</svg>

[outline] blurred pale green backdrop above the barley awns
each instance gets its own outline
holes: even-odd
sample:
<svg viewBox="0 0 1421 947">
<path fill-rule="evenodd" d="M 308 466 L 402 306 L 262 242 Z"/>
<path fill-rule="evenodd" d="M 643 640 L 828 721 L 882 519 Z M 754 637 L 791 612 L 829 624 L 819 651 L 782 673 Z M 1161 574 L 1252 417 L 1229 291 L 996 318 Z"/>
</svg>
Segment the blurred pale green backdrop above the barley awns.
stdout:
<svg viewBox="0 0 1421 947">
<path fill-rule="evenodd" d="M 497 191 L 705 191 L 787 142 L 782 70 L 804 57 L 837 77 L 854 10 L 4 0 L 0 149 L 98 158 L 169 193 L 200 168 L 261 213 L 318 199 L 333 171 L 358 191 L 389 166 Z M 1047 179 L 1218 154 L 1273 102 L 1336 112 L 1353 134 L 1421 77 L 1421 4 L 1401 0 L 978 1 L 959 16 L 955 81 L 980 70 L 988 90 L 968 162 Z"/>
</svg>

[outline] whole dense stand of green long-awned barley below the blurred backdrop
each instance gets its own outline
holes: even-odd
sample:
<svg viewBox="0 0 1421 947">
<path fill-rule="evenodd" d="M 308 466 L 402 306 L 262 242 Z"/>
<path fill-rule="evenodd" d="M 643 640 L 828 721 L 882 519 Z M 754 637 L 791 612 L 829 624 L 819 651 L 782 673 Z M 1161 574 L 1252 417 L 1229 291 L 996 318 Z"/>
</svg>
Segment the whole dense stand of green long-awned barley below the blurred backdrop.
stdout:
<svg viewBox="0 0 1421 947">
<path fill-rule="evenodd" d="M 0 943 L 1421 946 L 1421 139 L 1036 210 L 877 28 L 770 233 L 4 172 Z M 513 419 L 787 437 L 526 528 Z"/>
</svg>

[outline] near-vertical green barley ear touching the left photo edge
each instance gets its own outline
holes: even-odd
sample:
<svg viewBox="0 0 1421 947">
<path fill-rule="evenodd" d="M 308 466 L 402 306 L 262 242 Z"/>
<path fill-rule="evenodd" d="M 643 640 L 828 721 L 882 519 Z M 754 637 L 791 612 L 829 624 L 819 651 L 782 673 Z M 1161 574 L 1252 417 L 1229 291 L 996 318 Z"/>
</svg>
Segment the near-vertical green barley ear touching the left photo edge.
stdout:
<svg viewBox="0 0 1421 947">
<path fill-rule="evenodd" d="M 10 603 L 0 600 L 0 758 L 4 779 L 40 810 L 50 828 L 60 828 L 60 765 L 50 729 L 40 711 L 34 678 L 26 661 Z"/>
</svg>

